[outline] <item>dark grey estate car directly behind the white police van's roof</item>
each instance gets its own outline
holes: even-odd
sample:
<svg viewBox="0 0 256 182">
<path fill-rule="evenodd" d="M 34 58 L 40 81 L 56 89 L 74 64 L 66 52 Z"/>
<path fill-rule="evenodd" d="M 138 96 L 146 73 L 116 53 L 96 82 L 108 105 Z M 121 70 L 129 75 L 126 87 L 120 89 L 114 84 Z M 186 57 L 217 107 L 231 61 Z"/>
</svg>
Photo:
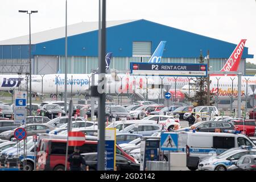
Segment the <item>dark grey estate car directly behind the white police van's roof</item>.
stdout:
<svg viewBox="0 0 256 182">
<path fill-rule="evenodd" d="M 236 127 L 230 122 L 202 121 L 199 123 L 195 123 L 191 127 L 184 127 L 183 129 L 179 129 L 177 131 L 191 130 L 192 127 L 195 127 L 196 131 L 202 131 L 202 132 L 215 132 L 215 129 L 220 129 L 220 132 L 223 132 L 224 130 L 236 130 Z"/>
</svg>

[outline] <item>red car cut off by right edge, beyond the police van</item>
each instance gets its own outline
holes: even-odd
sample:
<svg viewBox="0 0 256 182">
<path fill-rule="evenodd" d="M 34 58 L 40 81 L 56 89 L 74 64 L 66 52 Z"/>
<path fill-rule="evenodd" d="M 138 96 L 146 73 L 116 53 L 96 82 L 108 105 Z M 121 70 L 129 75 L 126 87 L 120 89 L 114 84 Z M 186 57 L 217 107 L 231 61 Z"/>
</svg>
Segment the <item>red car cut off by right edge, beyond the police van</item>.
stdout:
<svg viewBox="0 0 256 182">
<path fill-rule="evenodd" d="M 256 120 L 246 119 L 245 126 L 243 127 L 243 121 L 235 120 L 233 121 L 234 126 L 236 126 L 237 131 L 245 132 L 249 137 L 253 137 L 255 134 Z"/>
</svg>

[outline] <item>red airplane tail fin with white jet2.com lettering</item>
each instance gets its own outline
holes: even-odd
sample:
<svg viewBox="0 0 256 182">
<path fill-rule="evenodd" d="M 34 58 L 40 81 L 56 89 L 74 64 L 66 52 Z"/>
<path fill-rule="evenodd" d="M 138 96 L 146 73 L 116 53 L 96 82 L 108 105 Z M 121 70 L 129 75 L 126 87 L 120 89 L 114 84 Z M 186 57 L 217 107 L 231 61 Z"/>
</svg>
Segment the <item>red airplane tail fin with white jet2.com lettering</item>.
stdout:
<svg viewBox="0 0 256 182">
<path fill-rule="evenodd" d="M 221 69 L 221 72 L 237 71 L 242 54 L 243 54 L 243 48 L 245 47 L 245 42 L 246 42 L 246 39 L 242 39 L 240 43 L 237 44 L 237 47 L 234 49 L 228 61 L 226 61 L 226 64 Z"/>
</svg>

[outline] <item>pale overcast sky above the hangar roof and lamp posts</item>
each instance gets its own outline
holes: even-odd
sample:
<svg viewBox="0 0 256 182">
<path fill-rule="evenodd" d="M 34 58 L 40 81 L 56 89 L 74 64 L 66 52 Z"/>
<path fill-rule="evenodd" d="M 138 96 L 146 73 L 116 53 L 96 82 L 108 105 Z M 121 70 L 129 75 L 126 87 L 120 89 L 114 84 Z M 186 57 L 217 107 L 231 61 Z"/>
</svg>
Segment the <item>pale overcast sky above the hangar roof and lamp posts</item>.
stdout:
<svg viewBox="0 0 256 182">
<path fill-rule="evenodd" d="M 247 39 L 256 57 L 255 0 L 106 1 L 107 20 L 147 19 L 235 44 Z M 32 33 L 65 25 L 65 0 L 1 0 L 0 40 L 28 34 L 28 15 L 18 10 L 39 11 L 31 15 Z M 68 0 L 68 24 L 97 20 L 98 0 Z"/>
</svg>

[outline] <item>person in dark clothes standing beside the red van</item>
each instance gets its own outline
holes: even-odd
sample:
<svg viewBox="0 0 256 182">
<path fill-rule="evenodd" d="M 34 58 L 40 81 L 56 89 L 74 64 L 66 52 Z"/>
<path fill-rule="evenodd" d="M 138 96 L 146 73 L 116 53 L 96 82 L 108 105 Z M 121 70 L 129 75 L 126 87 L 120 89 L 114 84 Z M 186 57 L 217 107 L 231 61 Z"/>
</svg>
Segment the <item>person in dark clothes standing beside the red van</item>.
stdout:
<svg viewBox="0 0 256 182">
<path fill-rule="evenodd" d="M 86 165 L 84 158 L 79 154 L 79 148 L 75 147 L 73 154 L 69 155 L 68 162 L 70 163 L 71 171 L 81 171 L 81 165 Z"/>
</svg>

